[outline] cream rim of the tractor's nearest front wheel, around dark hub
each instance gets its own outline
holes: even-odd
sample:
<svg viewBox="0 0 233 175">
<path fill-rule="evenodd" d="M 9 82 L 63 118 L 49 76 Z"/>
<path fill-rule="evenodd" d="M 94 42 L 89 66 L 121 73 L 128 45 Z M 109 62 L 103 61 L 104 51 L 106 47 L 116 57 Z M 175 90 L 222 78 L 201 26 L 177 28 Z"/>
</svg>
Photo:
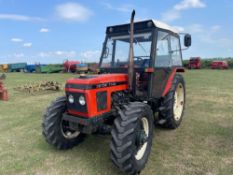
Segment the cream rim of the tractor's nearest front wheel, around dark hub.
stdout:
<svg viewBox="0 0 233 175">
<path fill-rule="evenodd" d="M 146 148 L 147 148 L 147 140 L 148 140 L 148 136 L 149 136 L 149 123 L 146 117 L 143 117 L 141 119 L 141 124 L 142 124 L 142 128 L 139 132 L 144 132 L 145 134 L 145 138 L 143 143 L 139 146 L 139 148 L 137 149 L 137 152 L 135 154 L 135 158 L 137 160 L 142 159 L 142 157 L 145 154 Z"/>
</svg>

